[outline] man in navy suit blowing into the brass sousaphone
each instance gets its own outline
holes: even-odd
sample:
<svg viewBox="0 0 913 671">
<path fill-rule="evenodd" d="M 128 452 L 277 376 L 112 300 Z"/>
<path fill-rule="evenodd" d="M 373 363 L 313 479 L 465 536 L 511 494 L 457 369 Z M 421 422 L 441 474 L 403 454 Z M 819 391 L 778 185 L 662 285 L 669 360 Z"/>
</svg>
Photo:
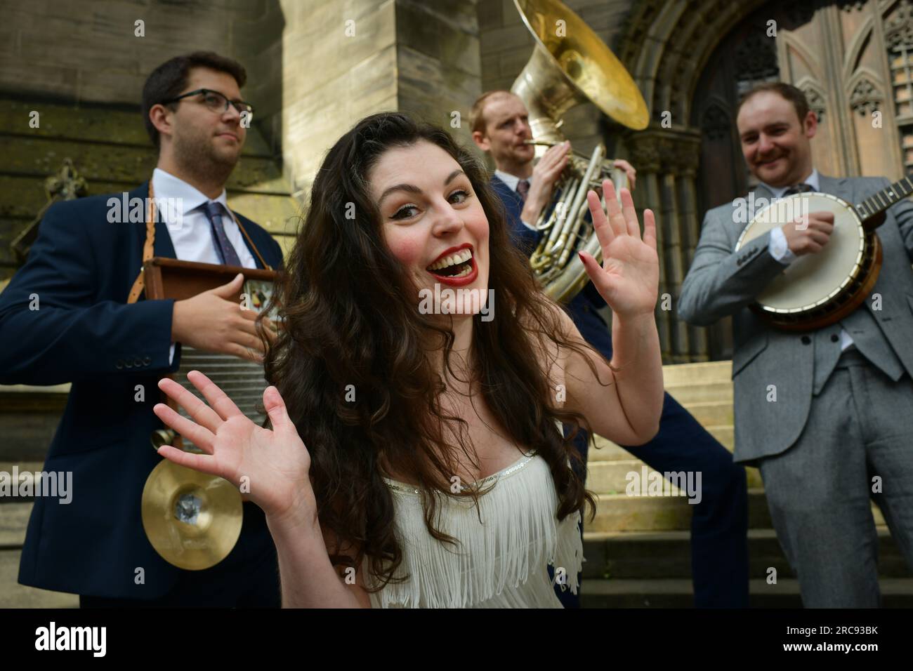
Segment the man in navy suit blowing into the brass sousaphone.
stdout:
<svg viewBox="0 0 913 671">
<path fill-rule="evenodd" d="M 489 152 L 498 168 L 491 186 L 501 197 L 516 243 L 530 254 L 539 243 L 533 230 L 540 212 L 550 206 L 551 191 L 567 164 L 570 143 L 551 147 L 533 167 L 532 138 L 523 101 L 505 90 L 483 94 L 471 114 L 473 140 Z M 630 164 L 616 161 L 631 180 Z M 525 193 L 525 197 L 524 194 Z M 612 334 L 598 309 L 605 301 L 587 282 L 565 306 L 585 341 L 612 360 Z M 575 445 L 584 463 L 589 436 Z M 691 567 L 695 605 L 748 605 L 748 489 L 745 470 L 733 464 L 729 451 L 666 393 L 659 433 L 643 446 L 625 446 L 654 470 L 665 474 L 701 474 L 700 501 L 691 522 Z M 585 474 L 584 474 L 585 477 Z M 671 475 L 667 475 L 670 477 Z M 695 476 L 697 477 L 697 476 Z M 570 592 L 559 593 L 566 607 L 577 605 Z"/>
</svg>

